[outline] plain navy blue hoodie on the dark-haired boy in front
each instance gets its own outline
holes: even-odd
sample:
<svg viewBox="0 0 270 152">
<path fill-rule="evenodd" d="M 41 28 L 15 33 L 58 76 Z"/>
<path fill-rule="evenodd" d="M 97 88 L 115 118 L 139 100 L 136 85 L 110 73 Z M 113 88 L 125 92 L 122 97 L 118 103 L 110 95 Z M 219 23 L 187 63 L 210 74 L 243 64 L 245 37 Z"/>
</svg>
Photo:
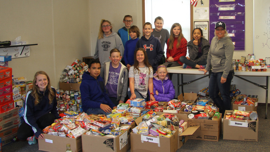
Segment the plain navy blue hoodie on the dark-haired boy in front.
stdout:
<svg viewBox="0 0 270 152">
<path fill-rule="evenodd" d="M 90 76 L 89 72 L 84 72 L 80 92 L 84 112 L 89 108 L 100 108 L 100 104 L 107 104 L 111 108 L 115 107 L 106 93 L 103 79 L 100 76 L 95 79 Z"/>
</svg>

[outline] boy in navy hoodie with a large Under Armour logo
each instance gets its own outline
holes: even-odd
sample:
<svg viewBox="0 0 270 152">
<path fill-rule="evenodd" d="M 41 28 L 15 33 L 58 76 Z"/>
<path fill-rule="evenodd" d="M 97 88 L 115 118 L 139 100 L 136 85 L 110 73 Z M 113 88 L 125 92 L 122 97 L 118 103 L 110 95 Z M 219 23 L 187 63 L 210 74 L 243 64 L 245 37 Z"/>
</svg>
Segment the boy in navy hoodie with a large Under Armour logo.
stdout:
<svg viewBox="0 0 270 152">
<path fill-rule="evenodd" d="M 159 40 L 151 35 L 151 33 L 153 32 L 151 23 L 144 23 L 143 32 L 144 36 L 142 36 L 142 38 L 137 41 L 135 50 L 138 48 L 145 49 L 148 56 L 148 61 L 151 64 L 154 72 L 156 72 L 156 69 L 159 65 L 159 60 L 163 56 L 163 50 L 161 48 Z"/>
</svg>

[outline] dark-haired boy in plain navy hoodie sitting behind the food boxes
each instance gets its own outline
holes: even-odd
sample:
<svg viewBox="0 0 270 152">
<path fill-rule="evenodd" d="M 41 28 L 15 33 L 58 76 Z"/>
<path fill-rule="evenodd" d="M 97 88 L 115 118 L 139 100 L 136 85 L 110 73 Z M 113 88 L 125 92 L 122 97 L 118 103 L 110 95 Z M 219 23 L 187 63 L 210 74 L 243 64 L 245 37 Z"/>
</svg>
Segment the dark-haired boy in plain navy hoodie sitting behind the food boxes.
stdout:
<svg viewBox="0 0 270 152">
<path fill-rule="evenodd" d="M 99 76 L 101 64 L 98 59 L 88 63 L 88 72 L 83 73 L 80 92 L 83 111 L 90 114 L 111 114 L 117 108 L 108 97 L 103 79 Z"/>
</svg>

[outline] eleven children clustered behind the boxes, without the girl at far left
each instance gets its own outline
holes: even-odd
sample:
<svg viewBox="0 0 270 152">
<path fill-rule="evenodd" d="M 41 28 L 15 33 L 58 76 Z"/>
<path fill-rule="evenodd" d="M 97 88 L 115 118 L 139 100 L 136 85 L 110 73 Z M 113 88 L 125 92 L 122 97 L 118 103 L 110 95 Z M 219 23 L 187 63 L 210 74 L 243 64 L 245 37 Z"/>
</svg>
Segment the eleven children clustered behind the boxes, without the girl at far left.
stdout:
<svg viewBox="0 0 270 152">
<path fill-rule="evenodd" d="M 88 63 L 88 72 L 83 74 L 80 86 L 83 110 L 87 114 L 110 113 L 119 103 L 124 103 L 127 95 L 129 99 L 170 101 L 175 90 L 167 76 L 167 67 L 205 68 L 210 45 L 202 38 L 201 29 L 194 29 L 193 39 L 187 43 L 181 25 L 174 23 L 169 33 L 163 29 L 161 17 L 155 18 L 155 29 L 149 22 L 143 25 L 144 35 L 140 39 L 139 28 L 131 26 L 132 16 L 126 15 L 123 23 L 125 26 L 117 35 L 110 21 L 101 21 L 95 60 Z M 187 48 L 190 58 L 186 57 Z"/>
</svg>

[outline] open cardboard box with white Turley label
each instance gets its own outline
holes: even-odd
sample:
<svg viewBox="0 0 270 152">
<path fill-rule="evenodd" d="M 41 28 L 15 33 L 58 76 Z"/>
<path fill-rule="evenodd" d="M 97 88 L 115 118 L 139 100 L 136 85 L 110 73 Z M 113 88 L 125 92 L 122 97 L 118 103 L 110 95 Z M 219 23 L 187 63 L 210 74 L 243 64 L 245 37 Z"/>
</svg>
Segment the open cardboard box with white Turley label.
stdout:
<svg viewBox="0 0 270 152">
<path fill-rule="evenodd" d="M 162 115 L 164 112 L 156 112 L 157 115 Z M 185 122 L 187 122 L 187 115 L 184 114 L 173 114 L 177 115 L 179 120 L 183 119 Z M 144 115 L 143 115 L 144 116 Z M 135 122 L 137 125 L 142 121 L 143 116 L 137 118 Z M 168 128 L 170 125 L 168 125 Z M 178 133 L 178 127 L 177 131 L 170 137 L 158 137 L 158 136 L 150 136 L 150 135 L 140 135 L 140 134 L 134 134 L 131 132 L 131 152 L 145 152 L 145 151 L 170 151 L 175 152 L 178 148 L 180 148 L 185 140 L 187 140 L 187 136 L 183 135 L 189 135 L 193 134 L 193 132 L 187 131 L 185 134 L 185 131 L 181 134 L 179 140 L 179 133 Z M 198 127 L 197 127 L 198 128 Z"/>
</svg>

